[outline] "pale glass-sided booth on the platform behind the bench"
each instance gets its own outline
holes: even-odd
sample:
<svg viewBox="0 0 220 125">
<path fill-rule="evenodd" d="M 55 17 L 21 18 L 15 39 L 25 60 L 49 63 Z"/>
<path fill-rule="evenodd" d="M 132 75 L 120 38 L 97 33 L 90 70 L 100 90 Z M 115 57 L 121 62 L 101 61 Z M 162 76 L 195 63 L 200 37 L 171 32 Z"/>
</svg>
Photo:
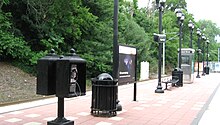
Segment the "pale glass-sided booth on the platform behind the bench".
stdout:
<svg viewBox="0 0 220 125">
<path fill-rule="evenodd" d="M 194 52 L 195 50 L 191 48 L 181 50 L 183 83 L 193 83 L 194 81 Z"/>
</svg>

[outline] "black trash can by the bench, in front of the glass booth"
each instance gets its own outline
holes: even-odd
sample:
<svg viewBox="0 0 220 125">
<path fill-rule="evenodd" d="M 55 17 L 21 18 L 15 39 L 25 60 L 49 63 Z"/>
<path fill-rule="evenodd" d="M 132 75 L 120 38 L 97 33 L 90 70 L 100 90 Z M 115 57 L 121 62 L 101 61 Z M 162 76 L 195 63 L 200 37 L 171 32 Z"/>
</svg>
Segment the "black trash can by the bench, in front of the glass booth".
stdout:
<svg viewBox="0 0 220 125">
<path fill-rule="evenodd" d="M 179 81 L 176 83 L 177 86 L 183 86 L 183 71 L 180 68 L 175 68 L 172 71 L 172 79 L 178 78 Z"/>
</svg>

